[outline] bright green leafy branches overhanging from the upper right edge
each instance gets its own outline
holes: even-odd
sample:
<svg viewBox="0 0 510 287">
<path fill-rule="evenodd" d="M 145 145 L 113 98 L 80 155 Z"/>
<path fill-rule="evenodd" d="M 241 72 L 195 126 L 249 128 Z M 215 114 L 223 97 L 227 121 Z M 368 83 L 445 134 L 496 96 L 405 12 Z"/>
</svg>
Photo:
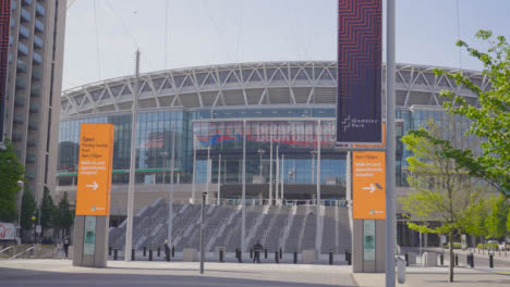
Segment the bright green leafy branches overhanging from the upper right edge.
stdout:
<svg viewBox="0 0 510 287">
<path fill-rule="evenodd" d="M 438 76 L 446 75 L 458 86 L 472 90 L 478 97 L 478 105 L 467 103 L 465 98 L 453 91 L 444 90 L 440 96 L 450 98 L 444 107 L 451 115 L 462 115 L 472 121 L 469 135 L 484 139 L 482 154 L 472 150 L 456 149 L 447 142 L 442 146 L 442 155 L 454 159 L 459 166 L 466 169 L 471 175 L 484 178 L 501 192 L 510 191 L 510 47 L 503 36 L 496 40 L 489 30 L 479 30 L 476 37 L 489 47 L 481 51 L 459 40 L 457 46 L 464 48 L 470 55 L 478 59 L 484 68 L 482 75 L 488 79 L 488 89 L 482 87 L 459 73 L 447 73 L 435 70 Z"/>
</svg>

